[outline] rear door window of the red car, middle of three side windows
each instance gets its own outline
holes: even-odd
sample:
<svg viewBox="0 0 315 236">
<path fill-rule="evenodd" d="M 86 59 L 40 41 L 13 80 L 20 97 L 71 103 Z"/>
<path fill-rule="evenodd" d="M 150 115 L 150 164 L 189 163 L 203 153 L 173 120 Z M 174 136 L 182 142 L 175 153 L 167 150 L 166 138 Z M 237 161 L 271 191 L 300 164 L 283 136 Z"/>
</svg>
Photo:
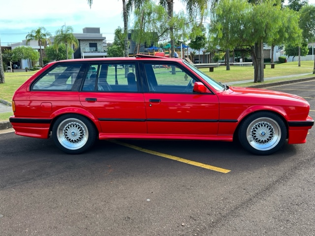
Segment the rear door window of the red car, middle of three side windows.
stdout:
<svg viewBox="0 0 315 236">
<path fill-rule="evenodd" d="M 82 90 L 137 92 L 138 80 L 135 64 L 91 64 Z"/>
</svg>

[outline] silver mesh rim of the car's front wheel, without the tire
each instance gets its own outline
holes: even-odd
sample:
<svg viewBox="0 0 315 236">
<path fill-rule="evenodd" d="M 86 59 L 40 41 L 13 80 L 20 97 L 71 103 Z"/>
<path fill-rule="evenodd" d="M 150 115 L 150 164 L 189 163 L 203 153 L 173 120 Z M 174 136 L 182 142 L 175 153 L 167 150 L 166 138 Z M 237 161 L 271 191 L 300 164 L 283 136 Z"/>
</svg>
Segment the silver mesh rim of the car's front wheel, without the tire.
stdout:
<svg viewBox="0 0 315 236">
<path fill-rule="evenodd" d="M 246 130 L 247 141 L 257 150 L 275 148 L 281 140 L 281 135 L 280 125 L 269 117 L 254 119 Z"/>
</svg>

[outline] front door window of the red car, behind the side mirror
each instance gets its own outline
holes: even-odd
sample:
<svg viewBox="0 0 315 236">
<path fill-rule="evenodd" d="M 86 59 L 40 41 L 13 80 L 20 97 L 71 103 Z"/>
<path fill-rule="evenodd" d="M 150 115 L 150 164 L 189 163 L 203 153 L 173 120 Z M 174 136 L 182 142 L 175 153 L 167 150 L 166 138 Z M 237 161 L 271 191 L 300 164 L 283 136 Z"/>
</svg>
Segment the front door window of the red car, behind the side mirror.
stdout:
<svg viewBox="0 0 315 236">
<path fill-rule="evenodd" d="M 150 92 L 192 93 L 195 80 L 173 64 L 144 65 Z"/>
</svg>

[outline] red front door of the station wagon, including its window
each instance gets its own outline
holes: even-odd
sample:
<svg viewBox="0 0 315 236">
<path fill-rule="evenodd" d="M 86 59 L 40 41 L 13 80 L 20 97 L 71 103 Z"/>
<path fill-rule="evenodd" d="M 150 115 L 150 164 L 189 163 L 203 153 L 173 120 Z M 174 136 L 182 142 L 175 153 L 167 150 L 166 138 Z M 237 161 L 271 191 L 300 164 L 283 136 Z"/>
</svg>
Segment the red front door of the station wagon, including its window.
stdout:
<svg viewBox="0 0 315 236">
<path fill-rule="evenodd" d="M 198 79 L 180 65 L 144 63 L 144 68 L 149 87 L 144 93 L 149 134 L 217 134 L 217 95 L 193 92 Z"/>
</svg>

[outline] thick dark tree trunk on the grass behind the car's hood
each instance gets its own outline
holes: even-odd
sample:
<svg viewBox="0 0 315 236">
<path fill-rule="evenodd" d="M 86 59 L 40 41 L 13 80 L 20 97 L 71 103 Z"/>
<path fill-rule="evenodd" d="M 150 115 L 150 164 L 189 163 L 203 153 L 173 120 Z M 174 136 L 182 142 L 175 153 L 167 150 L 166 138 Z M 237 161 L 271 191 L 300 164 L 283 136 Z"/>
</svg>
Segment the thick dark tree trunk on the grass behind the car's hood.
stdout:
<svg viewBox="0 0 315 236">
<path fill-rule="evenodd" d="M 264 57 L 263 57 L 263 42 L 255 43 L 254 45 L 254 83 L 264 82 Z"/>
</svg>

